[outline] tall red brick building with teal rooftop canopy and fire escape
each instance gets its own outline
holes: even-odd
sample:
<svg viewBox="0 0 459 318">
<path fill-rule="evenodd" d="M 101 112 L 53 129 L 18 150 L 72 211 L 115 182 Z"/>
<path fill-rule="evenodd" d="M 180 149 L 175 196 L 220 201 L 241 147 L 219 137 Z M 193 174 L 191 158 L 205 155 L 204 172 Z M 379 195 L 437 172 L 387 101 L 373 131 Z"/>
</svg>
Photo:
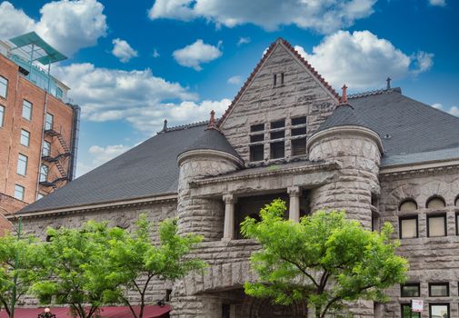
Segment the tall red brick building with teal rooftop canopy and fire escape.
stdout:
<svg viewBox="0 0 459 318">
<path fill-rule="evenodd" d="M 74 178 L 79 107 L 65 103 L 69 88 L 49 75 L 63 59 L 35 33 L 0 42 L 0 214 Z"/>
</svg>

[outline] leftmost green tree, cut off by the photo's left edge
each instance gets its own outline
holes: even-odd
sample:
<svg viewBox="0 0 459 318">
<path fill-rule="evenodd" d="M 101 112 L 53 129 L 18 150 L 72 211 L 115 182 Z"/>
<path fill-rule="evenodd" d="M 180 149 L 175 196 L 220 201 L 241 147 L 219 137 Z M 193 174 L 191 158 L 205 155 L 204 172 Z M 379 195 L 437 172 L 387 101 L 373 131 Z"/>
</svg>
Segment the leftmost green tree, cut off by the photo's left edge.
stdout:
<svg viewBox="0 0 459 318">
<path fill-rule="evenodd" d="M 10 318 L 15 317 L 15 303 L 44 275 L 39 250 L 31 236 L 0 236 L 0 303 Z"/>
</svg>

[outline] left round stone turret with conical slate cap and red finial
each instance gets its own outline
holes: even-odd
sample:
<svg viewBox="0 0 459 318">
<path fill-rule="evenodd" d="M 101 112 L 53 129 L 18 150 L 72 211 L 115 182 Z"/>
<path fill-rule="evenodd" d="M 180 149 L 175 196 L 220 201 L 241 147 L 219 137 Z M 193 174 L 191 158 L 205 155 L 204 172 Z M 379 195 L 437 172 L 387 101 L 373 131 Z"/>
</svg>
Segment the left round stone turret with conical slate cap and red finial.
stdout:
<svg viewBox="0 0 459 318">
<path fill-rule="evenodd" d="M 207 129 L 195 144 L 178 155 L 178 227 L 180 234 L 200 234 L 205 241 L 223 237 L 225 206 L 222 197 L 200 197 L 194 193 L 193 182 L 199 178 L 226 174 L 244 163 L 225 136 Z"/>
</svg>

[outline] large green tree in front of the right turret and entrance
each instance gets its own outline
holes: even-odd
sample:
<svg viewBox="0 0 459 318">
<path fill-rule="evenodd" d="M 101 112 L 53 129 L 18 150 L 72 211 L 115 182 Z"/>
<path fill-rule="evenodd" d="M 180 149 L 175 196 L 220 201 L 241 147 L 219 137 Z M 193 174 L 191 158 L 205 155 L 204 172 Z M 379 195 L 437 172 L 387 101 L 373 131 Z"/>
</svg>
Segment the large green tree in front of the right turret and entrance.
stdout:
<svg viewBox="0 0 459 318">
<path fill-rule="evenodd" d="M 307 303 L 315 317 L 341 310 L 358 299 L 383 302 L 384 289 L 404 283 L 408 264 L 395 255 L 393 228 L 381 234 L 365 230 L 344 212 L 316 212 L 300 223 L 284 220 L 281 200 L 261 210 L 261 221 L 247 217 L 242 233 L 263 249 L 251 257 L 259 279 L 245 283 L 245 293 L 268 297 L 274 303 Z"/>
</svg>

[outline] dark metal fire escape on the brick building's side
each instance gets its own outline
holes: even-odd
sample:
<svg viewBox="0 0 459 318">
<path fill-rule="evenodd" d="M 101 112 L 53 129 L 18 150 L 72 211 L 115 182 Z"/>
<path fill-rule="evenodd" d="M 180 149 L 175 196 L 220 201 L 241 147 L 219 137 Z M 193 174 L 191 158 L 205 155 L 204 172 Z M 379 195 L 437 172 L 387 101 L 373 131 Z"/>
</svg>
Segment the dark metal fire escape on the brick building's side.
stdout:
<svg viewBox="0 0 459 318">
<path fill-rule="evenodd" d="M 55 164 L 55 167 L 59 171 L 60 175 L 53 181 L 41 181 L 40 184 L 43 186 L 51 186 L 53 189 L 56 189 L 58 185 L 62 184 L 63 182 L 68 182 L 72 178 L 72 172 L 69 171 L 69 159 L 73 154 L 70 152 L 68 145 L 65 143 L 64 136 L 60 132 L 55 131 L 53 127 L 45 129 L 45 135 L 50 136 L 53 142 L 55 139 L 57 139 L 60 144 L 60 151 L 54 157 L 50 155 L 44 155 L 42 156 L 42 160 L 49 164 Z M 49 154 L 51 154 L 51 151 Z"/>
</svg>

